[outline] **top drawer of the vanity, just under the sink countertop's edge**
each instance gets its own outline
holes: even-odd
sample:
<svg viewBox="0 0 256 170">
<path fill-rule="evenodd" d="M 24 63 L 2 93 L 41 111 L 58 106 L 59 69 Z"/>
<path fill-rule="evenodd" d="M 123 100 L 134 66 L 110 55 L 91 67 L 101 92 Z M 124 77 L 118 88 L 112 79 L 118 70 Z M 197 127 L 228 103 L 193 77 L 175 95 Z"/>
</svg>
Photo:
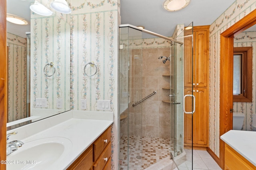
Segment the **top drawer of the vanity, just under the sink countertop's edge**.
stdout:
<svg viewBox="0 0 256 170">
<path fill-rule="evenodd" d="M 93 162 L 97 160 L 104 148 L 110 143 L 110 138 L 111 126 L 93 143 Z"/>
</svg>

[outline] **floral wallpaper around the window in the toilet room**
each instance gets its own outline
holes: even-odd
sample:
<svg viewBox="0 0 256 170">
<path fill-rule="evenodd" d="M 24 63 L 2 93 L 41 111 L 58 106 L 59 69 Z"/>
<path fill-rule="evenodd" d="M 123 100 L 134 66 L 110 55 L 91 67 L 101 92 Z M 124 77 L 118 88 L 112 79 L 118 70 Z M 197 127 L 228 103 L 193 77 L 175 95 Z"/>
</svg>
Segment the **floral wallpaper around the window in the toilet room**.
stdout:
<svg viewBox="0 0 256 170">
<path fill-rule="evenodd" d="M 242 32 L 234 37 L 234 47 L 252 47 L 252 103 L 248 102 L 234 102 L 233 109 L 234 112 L 240 112 L 245 115 L 244 125 L 242 130 L 252 131 L 252 121 L 256 121 L 252 119 L 252 114 L 256 114 L 256 32 Z"/>
</svg>

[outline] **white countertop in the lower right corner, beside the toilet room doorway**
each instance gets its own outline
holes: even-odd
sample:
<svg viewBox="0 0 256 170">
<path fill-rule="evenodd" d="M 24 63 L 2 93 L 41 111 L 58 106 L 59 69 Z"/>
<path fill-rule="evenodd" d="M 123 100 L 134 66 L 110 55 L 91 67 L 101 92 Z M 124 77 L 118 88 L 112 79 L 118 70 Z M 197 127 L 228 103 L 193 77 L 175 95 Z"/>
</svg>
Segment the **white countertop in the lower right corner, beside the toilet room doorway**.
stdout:
<svg viewBox="0 0 256 170">
<path fill-rule="evenodd" d="M 255 131 L 230 130 L 222 135 L 220 139 L 256 166 Z"/>
</svg>

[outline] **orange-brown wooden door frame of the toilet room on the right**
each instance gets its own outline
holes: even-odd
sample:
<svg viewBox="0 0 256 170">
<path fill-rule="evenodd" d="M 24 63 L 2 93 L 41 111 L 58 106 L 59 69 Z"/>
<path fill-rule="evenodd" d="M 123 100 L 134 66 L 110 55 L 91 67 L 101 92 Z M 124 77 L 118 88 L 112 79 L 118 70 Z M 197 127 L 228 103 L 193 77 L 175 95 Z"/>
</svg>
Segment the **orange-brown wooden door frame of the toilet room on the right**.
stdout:
<svg viewBox="0 0 256 170">
<path fill-rule="evenodd" d="M 220 136 L 233 128 L 234 35 L 256 24 L 256 9 L 220 34 Z M 225 148 L 220 139 L 220 168 L 224 169 Z"/>
</svg>

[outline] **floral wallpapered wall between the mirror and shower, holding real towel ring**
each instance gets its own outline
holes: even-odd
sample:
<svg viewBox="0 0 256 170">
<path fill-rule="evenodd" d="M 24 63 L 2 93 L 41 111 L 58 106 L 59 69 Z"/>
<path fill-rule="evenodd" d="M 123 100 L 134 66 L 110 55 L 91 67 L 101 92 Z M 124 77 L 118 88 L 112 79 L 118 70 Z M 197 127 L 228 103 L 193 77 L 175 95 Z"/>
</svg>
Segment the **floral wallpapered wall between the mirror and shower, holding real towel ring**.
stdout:
<svg viewBox="0 0 256 170">
<path fill-rule="evenodd" d="M 112 169 L 116 169 L 120 0 L 70 0 L 68 4 L 72 9 L 69 21 L 70 108 L 102 111 L 97 109 L 97 100 L 110 100 L 110 111 L 114 112 Z M 89 62 L 96 66 L 86 66 Z M 97 72 L 92 75 L 95 67 Z M 86 100 L 86 109 L 81 108 L 82 99 Z"/>
</svg>

